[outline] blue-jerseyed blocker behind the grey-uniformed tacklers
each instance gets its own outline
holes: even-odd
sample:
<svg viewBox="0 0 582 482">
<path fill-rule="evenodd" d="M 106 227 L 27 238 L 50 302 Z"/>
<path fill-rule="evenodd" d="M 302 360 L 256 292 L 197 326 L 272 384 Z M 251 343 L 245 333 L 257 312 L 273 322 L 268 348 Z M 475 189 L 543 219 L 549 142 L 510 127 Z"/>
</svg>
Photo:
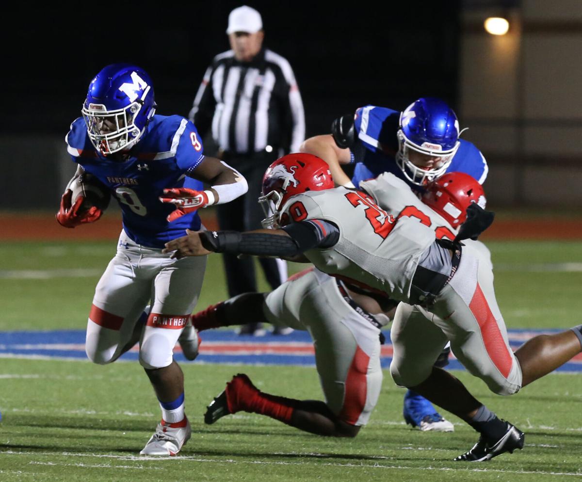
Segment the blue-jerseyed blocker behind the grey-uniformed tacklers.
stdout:
<svg viewBox="0 0 582 482">
<path fill-rule="evenodd" d="M 331 135 L 304 141 L 301 151 L 325 160 L 336 185 L 357 189 L 361 181 L 391 172 L 420 195 L 423 186 L 445 172 L 467 173 L 480 184 L 487 178 L 485 157 L 472 143 L 459 139 L 461 133 L 455 112 L 445 102 L 423 97 L 402 112 L 360 107 L 354 115 L 333 121 Z M 353 165 L 352 179 L 341 168 L 347 164 Z M 420 315 L 407 307 L 398 316 L 414 320 Z M 447 346 L 435 366 L 448 364 L 449 351 Z M 423 431 L 454 430 L 427 399 L 410 390 L 404 395 L 403 414 L 407 423 Z"/>
</svg>

